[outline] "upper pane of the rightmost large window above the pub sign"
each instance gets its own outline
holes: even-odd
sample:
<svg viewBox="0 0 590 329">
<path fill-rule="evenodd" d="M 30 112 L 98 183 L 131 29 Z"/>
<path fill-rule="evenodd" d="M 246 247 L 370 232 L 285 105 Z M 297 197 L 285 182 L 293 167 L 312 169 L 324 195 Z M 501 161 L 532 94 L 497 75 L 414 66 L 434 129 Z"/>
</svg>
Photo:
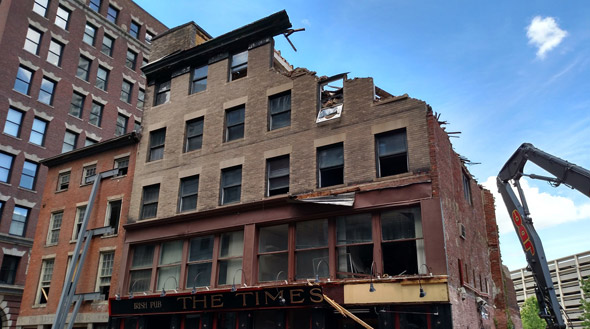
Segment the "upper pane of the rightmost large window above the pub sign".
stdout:
<svg viewBox="0 0 590 329">
<path fill-rule="evenodd" d="M 420 208 L 402 208 L 381 213 L 383 240 L 422 238 Z"/>
</svg>

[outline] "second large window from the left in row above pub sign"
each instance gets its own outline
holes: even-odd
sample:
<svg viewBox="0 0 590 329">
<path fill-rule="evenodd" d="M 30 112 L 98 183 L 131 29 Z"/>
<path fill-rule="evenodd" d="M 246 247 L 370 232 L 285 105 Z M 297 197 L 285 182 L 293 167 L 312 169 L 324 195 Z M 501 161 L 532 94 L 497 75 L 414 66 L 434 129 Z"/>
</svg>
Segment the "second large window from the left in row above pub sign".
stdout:
<svg viewBox="0 0 590 329">
<path fill-rule="evenodd" d="M 160 246 L 158 281 L 156 290 L 178 289 L 180 263 L 182 261 L 182 240 L 164 242 Z M 174 279 L 174 280 L 170 280 Z"/>
</svg>

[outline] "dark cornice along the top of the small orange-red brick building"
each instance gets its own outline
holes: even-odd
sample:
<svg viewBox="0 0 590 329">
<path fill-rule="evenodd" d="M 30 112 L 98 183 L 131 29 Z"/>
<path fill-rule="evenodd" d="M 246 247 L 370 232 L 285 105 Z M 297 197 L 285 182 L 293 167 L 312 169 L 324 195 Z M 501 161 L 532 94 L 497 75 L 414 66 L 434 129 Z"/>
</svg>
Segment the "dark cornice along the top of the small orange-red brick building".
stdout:
<svg viewBox="0 0 590 329">
<path fill-rule="evenodd" d="M 51 168 L 61 165 L 66 162 L 86 158 L 105 151 L 125 147 L 128 145 L 137 144 L 139 142 L 139 134 L 130 132 L 119 137 L 107 139 L 103 142 L 88 145 L 70 152 L 62 153 L 50 158 L 43 159 L 39 163 Z"/>
</svg>

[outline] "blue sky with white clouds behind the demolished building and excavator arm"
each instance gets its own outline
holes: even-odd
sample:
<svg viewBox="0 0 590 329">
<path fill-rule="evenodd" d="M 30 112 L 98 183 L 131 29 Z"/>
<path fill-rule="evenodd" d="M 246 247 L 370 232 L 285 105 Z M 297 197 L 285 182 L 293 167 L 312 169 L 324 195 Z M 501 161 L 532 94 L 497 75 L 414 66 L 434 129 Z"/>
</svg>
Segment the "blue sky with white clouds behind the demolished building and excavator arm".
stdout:
<svg viewBox="0 0 590 329">
<path fill-rule="evenodd" d="M 216 37 L 280 10 L 295 67 L 373 77 L 440 113 L 455 151 L 496 196 L 503 263 L 526 259 L 495 176 L 524 142 L 590 169 L 590 4 L 570 1 L 135 0 L 168 27 L 194 21 Z M 455 138 L 456 137 L 456 138 Z M 526 173 L 545 174 L 534 165 Z M 548 260 L 590 250 L 590 199 L 522 180 Z"/>
</svg>

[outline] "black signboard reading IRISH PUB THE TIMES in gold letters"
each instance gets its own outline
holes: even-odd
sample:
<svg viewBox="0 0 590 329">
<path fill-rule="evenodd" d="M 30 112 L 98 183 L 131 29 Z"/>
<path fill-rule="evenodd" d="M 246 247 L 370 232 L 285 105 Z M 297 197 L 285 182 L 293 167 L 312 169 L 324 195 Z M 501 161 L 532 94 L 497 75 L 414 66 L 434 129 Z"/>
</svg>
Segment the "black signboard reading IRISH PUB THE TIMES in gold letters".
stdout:
<svg viewBox="0 0 590 329">
<path fill-rule="evenodd" d="M 291 286 L 231 291 L 200 291 L 160 296 L 137 296 L 109 300 L 109 315 L 145 315 L 192 313 L 203 311 L 239 310 L 311 306 L 324 302 L 318 286 Z"/>
</svg>

